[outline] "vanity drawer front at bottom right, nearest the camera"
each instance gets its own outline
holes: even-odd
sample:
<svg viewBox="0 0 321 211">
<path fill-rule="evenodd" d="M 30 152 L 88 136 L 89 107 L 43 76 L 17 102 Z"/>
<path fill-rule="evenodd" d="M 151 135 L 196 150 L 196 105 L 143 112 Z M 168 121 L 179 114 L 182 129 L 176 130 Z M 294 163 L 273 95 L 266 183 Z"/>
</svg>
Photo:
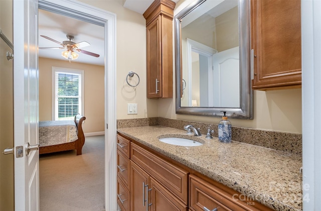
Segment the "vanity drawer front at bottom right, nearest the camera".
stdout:
<svg viewBox="0 0 321 211">
<path fill-rule="evenodd" d="M 253 200 L 241 200 L 238 196 L 240 193 L 231 194 L 201 178 L 190 174 L 190 209 L 193 211 L 203 211 L 217 208 L 218 211 L 223 210 L 271 210 L 263 207 Z M 261 205 L 263 209 L 256 208 L 252 205 Z"/>
</svg>

